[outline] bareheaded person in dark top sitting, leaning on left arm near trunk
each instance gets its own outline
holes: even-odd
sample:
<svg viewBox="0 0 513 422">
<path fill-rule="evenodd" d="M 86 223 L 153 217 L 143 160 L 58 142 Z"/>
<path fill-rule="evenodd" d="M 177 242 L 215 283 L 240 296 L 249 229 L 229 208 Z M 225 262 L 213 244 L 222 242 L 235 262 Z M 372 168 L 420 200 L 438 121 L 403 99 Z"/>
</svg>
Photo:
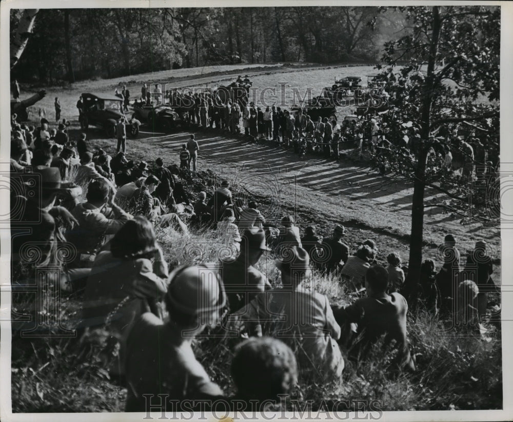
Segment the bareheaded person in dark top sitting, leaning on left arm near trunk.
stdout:
<svg viewBox="0 0 513 422">
<path fill-rule="evenodd" d="M 348 327 L 357 324 L 357 337 L 349 348 L 352 360 L 365 359 L 373 344 L 385 336 L 385 345 L 392 341 L 399 350 L 395 364 L 400 368 L 415 370 L 406 338 L 406 313 L 408 303 L 400 293 L 388 295 L 388 272 L 382 265 L 372 265 L 365 275 L 367 297 L 352 305 L 332 306 L 338 324 Z"/>
</svg>

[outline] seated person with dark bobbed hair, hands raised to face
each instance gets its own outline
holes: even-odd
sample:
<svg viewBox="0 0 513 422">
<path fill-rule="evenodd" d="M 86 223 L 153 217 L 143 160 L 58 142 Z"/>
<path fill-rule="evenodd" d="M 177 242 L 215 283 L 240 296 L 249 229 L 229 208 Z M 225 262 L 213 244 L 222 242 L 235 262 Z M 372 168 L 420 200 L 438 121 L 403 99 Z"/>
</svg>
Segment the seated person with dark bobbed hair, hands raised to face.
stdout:
<svg viewBox="0 0 513 422">
<path fill-rule="evenodd" d="M 163 316 L 167 278 L 167 263 L 151 223 L 141 216 L 128 220 L 112 238 L 110 250 L 94 260 L 78 328 L 105 327 L 113 340 L 112 351 L 116 342 L 121 346 L 123 364 L 127 335 L 139 316 L 146 311 Z M 110 363 L 114 374 L 123 373 L 123 365 Z"/>
</svg>

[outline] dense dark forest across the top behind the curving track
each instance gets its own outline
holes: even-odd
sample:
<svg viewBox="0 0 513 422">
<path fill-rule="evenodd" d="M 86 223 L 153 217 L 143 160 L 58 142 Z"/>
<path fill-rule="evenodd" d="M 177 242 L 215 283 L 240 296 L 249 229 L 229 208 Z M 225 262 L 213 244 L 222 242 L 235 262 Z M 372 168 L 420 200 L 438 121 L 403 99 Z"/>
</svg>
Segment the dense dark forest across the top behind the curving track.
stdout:
<svg viewBox="0 0 513 422">
<path fill-rule="evenodd" d="M 20 15 L 11 10 L 11 41 Z M 401 13 L 377 7 L 41 9 L 12 76 L 51 85 L 206 65 L 375 61 L 404 28 Z"/>
</svg>

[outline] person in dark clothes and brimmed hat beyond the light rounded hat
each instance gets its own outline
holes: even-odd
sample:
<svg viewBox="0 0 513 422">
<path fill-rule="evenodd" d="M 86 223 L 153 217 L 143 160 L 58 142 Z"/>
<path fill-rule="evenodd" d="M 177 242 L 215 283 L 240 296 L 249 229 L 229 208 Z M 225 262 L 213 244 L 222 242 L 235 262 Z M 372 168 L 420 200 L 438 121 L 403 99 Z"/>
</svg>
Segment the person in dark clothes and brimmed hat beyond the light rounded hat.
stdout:
<svg viewBox="0 0 513 422">
<path fill-rule="evenodd" d="M 258 293 L 271 287 L 267 277 L 254 267 L 269 250 L 264 230 L 250 228 L 242 235 L 240 255 L 220 260 L 230 312 L 241 309 Z"/>
</svg>

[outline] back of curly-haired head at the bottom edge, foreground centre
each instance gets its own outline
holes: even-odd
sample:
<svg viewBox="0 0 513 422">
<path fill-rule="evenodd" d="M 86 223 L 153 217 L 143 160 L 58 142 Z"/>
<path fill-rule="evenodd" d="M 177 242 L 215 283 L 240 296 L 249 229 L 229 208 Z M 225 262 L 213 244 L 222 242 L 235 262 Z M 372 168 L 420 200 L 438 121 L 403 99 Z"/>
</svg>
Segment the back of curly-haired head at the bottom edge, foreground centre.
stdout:
<svg viewBox="0 0 513 422">
<path fill-rule="evenodd" d="M 258 400 L 276 405 L 280 394 L 290 394 L 298 382 L 294 352 L 272 337 L 251 337 L 236 346 L 230 372 L 237 389 L 232 400 L 246 404 Z"/>
</svg>

